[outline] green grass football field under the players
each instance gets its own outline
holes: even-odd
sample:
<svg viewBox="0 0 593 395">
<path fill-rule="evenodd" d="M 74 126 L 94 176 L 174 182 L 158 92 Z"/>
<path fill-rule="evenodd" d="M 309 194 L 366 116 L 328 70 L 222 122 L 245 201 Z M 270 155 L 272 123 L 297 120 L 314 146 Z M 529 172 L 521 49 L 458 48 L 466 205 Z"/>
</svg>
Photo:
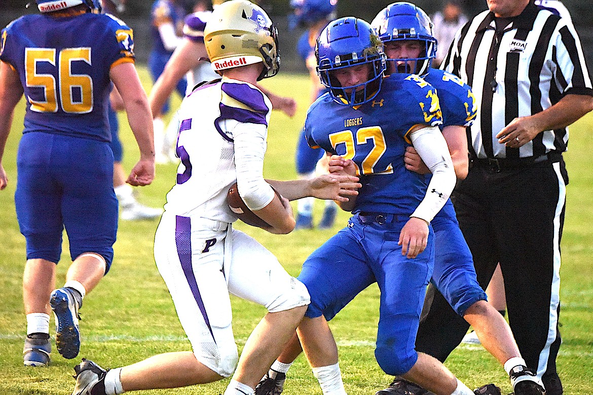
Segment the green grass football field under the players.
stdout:
<svg viewBox="0 0 593 395">
<path fill-rule="evenodd" d="M 149 88 L 149 78 L 141 69 L 142 80 Z M 298 99 L 295 118 L 280 113 L 272 115 L 264 175 L 267 178 L 294 178 L 294 147 L 307 107 L 307 78 L 286 76 L 264 81 L 279 94 Z M 178 99 L 176 103 L 178 104 Z M 0 394 L 69 394 L 75 364 L 80 357 L 93 359 L 103 367 L 119 367 L 150 355 L 168 351 L 187 351 L 190 344 L 178 322 L 170 295 L 152 257 L 152 242 L 157 221 L 120 221 L 115 245 L 115 259 L 109 275 L 87 298 L 81 310 L 82 346 L 74 360 L 52 353 L 48 368 L 25 368 L 21 352 L 26 323 L 23 313 L 21 279 L 25 264 L 24 237 L 18 231 L 14 210 L 16 180 L 15 156 L 21 136 L 24 103 L 18 105 L 14 126 L 4 155 L 9 186 L 0 192 L 0 286 L 4 297 L 0 307 Z M 125 146 L 125 167 L 131 169 L 138 158 L 132 133 L 120 114 L 120 136 Z M 566 162 L 570 174 L 566 222 L 562 239 L 562 323 L 563 345 L 557 363 L 565 394 L 593 393 L 593 116 L 572 126 L 570 150 Z M 138 198 L 148 205 L 165 203 L 165 193 L 174 182 L 176 166 L 158 165 L 155 182 L 140 188 Z M 317 204 L 317 218 L 321 204 Z M 270 235 L 259 229 L 237 224 L 256 237 L 278 256 L 293 275 L 297 275 L 307 255 L 346 223 L 340 213 L 332 230 L 304 230 L 286 236 Z M 58 286 L 70 262 L 68 248 L 58 266 Z M 526 285 L 527 286 L 527 285 Z M 369 287 L 331 322 L 339 345 L 340 367 L 351 395 L 372 395 L 390 383 L 374 359 L 374 341 L 378 320 L 378 288 Z M 234 331 L 241 348 L 248 334 L 264 314 L 260 306 L 232 299 Z M 53 326 L 53 318 L 52 318 Z M 475 388 L 496 383 L 503 393 L 511 392 L 506 374 L 481 346 L 460 346 L 449 357 L 447 366 Z M 178 390 L 147 391 L 147 394 L 222 393 L 228 380 L 205 386 Z M 304 358 L 299 358 L 286 381 L 287 395 L 321 394 L 317 381 Z"/>
</svg>

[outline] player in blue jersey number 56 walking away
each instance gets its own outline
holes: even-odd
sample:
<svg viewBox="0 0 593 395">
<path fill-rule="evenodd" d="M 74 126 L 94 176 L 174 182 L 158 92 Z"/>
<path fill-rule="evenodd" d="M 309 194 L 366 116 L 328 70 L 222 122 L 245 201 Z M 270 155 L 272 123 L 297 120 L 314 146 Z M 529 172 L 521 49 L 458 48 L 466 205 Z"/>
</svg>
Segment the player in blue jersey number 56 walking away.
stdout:
<svg viewBox="0 0 593 395">
<path fill-rule="evenodd" d="M 58 352 L 76 357 L 78 309 L 113 259 L 117 199 L 107 121 L 112 81 L 123 95 L 140 148 L 129 184 L 152 182 L 154 145 L 148 101 L 134 67 L 132 30 L 117 18 L 97 14 L 97 0 L 37 0 L 37 5 L 42 14 L 25 15 L 2 30 L 0 155 L 11 114 L 24 94 L 15 192 L 18 224 L 27 241 L 24 364 L 46 366 L 50 309 Z M 7 182 L 0 166 L 0 189 Z M 72 264 L 64 287 L 53 290 L 64 228 Z"/>
</svg>

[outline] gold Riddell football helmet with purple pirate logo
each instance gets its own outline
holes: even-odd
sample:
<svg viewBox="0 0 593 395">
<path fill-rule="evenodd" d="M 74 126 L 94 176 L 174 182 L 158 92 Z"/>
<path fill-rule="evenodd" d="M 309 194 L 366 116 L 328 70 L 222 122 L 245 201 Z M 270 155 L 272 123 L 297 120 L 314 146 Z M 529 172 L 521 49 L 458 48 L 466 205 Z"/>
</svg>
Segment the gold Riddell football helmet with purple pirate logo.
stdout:
<svg viewBox="0 0 593 395">
<path fill-rule="evenodd" d="M 266 11 L 247 0 L 222 3 L 204 29 L 206 52 L 216 72 L 263 62 L 257 81 L 275 76 L 280 68 L 278 30 Z"/>
</svg>

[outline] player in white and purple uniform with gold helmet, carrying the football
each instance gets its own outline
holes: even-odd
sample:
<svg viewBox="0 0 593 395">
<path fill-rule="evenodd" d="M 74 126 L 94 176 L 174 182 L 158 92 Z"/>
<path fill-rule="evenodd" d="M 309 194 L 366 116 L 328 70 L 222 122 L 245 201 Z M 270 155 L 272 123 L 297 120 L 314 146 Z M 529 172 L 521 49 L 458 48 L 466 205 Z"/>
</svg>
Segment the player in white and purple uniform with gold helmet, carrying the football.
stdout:
<svg viewBox="0 0 593 395">
<path fill-rule="evenodd" d="M 270 224 L 266 230 L 272 233 L 294 229 L 288 200 L 314 195 L 347 201 L 342 195 L 356 195 L 351 188 L 361 187 L 352 176 L 269 181 L 283 195 L 279 198 L 263 178 L 272 105 L 255 85 L 278 72 L 276 28 L 257 5 L 232 0 L 213 11 L 204 33 L 209 59 L 222 79 L 196 87 L 181 104 L 181 163 L 154 246 L 158 270 L 193 351 L 156 355 L 109 371 L 83 359 L 75 368 L 73 395 L 183 387 L 231 375 L 226 395 L 253 394 L 310 298 L 272 253 L 232 228 L 236 217 L 227 204 L 229 187 L 237 182 L 247 207 Z M 246 41 L 257 45 L 244 47 Z M 268 310 L 241 358 L 229 294 Z"/>
</svg>

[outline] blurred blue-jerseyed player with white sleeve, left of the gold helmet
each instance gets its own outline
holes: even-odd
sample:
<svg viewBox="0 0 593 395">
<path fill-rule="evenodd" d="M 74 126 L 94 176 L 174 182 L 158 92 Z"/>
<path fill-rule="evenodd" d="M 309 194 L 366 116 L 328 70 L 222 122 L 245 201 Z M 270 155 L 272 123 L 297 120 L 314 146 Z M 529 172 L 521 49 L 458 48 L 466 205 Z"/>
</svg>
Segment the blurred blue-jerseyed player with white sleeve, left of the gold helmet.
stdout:
<svg viewBox="0 0 593 395">
<path fill-rule="evenodd" d="M 148 56 L 148 68 L 150 70 L 152 82 L 157 81 L 165 64 L 177 48 L 183 37 L 183 20 L 186 11 L 180 0 L 156 0 L 151 9 L 151 35 L 152 50 Z M 177 92 L 181 98 L 185 97 L 187 81 L 181 78 L 177 82 Z M 168 98 L 165 100 L 159 114 L 166 114 L 169 111 Z M 167 163 L 168 157 L 165 155 L 167 147 L 165 144 L 165 126 L 161 116 L 154 119 L 154 143 L 157 153 L 157 163 Z"/>
</svg>

